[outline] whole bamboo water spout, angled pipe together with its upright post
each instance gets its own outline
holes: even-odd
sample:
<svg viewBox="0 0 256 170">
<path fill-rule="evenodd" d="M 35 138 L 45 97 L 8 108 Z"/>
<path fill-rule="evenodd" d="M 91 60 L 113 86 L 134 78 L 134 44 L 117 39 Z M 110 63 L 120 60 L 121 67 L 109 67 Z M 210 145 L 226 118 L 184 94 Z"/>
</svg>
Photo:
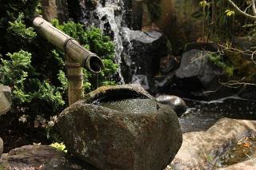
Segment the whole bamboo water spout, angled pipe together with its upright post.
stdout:
<svg viewBox="0 0 256 170">
<path fill-rule="evenodd" d="M 46 22 L 45 19 L 36 17 L 33 24 L 42 37 L 66 53 L 68 97 L 69 105 L 72 105 L 84 96 L 82 67 L 93 73 L 99 73 L 104 68 L 102 59 L 85 49 L 74 38 L 52 26 L 50 22 Z"/>
</svg>

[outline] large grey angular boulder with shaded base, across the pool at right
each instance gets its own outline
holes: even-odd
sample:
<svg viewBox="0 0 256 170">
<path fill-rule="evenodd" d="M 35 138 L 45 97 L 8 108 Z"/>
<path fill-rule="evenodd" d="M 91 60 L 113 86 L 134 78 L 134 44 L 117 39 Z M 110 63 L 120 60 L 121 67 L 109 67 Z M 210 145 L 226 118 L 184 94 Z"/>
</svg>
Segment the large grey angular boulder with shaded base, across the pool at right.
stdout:
<svg viewBox="0 0 256 170">
<path fill-rule="evenodd" d="M 209 54 L 198 49 L 183 53 L 181 65 L 175 71 L 175 77 L 172 80 L 172 89 L 185 93 L 182 97 L 192 97 L 199 100 L 213 100 L 234 94 L 234 89 L 226 90 L 228 88 L 220 85 L 220 80 L 225 81 L 225 73 L 222 68 L 209 61 L 207 58 Z M 230 91 L 232 91 L 231 94 Z M 168 91 L 168 93 L 177 95 L 174 92 Z"/>
</svg>

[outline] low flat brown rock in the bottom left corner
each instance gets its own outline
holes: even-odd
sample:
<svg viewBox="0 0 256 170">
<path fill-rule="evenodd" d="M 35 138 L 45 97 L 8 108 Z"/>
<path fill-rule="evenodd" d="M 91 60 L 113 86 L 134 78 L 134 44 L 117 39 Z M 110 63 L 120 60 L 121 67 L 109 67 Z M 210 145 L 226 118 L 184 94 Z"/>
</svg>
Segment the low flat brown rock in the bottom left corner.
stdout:
<svg viewBox="0 0 256 170">
<path fill-rule="evenodd" d="M 68 156 L 65 152 L 40 144 L 22 146 L 11 150 L 8 154 L 2 154 L 0 164 L 6 170 L 96 170 L 89 164 Z"/>
</svg>

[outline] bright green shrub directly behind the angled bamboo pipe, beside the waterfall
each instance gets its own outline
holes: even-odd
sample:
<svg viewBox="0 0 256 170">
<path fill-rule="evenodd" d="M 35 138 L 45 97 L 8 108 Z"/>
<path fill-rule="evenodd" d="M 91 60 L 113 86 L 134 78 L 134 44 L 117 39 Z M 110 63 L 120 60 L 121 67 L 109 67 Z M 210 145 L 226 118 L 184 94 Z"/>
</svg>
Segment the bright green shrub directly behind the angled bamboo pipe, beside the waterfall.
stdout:
<svg viewBox="0 0 256 170">
<path fill-rule="evenodd" d="M 59 30 L 62 30 L 66 34 L 70 35 L 70 37 L 77 39 L 78 42 L 86 47 L 86 49 L 90 49 L 90 51 L 96 53 L 102 58 L 105 69 L 103 69 L 101 73 L 98 73 L 98 75 L 95 76 L 86 69 L 83 70 L 84 88 L 86 92 L 96 89 L 101 85 L 115 84 L 112 77 L 117 72 L 118 65 L 114 64 L 114 43 L 110 41 L 109 37 L 102 34 L 102 30 L 94 27 L 90 28 L 89 30 L 84 30 L 84 27 L 81 24 L 74 22 L 65 22 L 60 25 L 57 19 L 54 19 L 52 24 Z M 64 57 L 63 53 L 59 51 L 54 51 L 54 53 L 58 60 Z M 59 62 L 62 63 L 63 61 Z"/>
</svg>

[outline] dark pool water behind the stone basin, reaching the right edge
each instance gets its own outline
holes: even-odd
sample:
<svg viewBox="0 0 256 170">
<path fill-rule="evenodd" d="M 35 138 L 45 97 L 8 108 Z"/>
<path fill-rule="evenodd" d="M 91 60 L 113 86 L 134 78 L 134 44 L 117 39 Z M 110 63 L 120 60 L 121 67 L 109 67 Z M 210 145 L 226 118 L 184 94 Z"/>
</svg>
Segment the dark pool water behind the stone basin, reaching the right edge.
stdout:
<svg viewBox="0 0 256 170">
<path fill-rule="evenodd" d="M 205 131 L 223 117 L 256 120 L 256 101 L 238 97 L 217 101 L 192 101 L 185 99 L 189 109 L 180 117 L 182 132 Z"/>
</svg>

